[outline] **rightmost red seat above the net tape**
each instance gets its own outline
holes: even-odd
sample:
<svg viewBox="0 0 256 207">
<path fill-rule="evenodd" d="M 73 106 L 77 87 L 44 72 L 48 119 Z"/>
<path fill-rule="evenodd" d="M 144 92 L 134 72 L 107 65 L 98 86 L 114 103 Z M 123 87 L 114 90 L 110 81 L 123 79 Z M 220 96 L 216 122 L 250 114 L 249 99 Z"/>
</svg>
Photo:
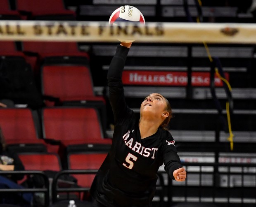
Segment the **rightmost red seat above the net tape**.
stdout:
<svg viewBox="0 0 256 207">
<path fill-rule="evenodd" d="M 16 7 L 27 19 L 75 20 L 76 13 L 64 6 L 63 0 L 16 0 Z"/>
</svg>

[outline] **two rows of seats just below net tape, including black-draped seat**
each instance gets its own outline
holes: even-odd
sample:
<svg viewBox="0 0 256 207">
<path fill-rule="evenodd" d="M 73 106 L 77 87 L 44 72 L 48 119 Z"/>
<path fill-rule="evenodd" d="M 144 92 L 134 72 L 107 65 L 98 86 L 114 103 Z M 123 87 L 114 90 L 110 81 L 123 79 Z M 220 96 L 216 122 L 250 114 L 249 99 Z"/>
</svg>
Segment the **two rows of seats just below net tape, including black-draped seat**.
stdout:
<svg viewBox="0 0 256 207">
<path fill-rule="evenodd" d="M 76 42 L 0 42 L 0 55 L 0 99 L 32 109 L 97 107 L 105 131 L 105 99 L 95 95 L 90 57 Z"/>
</svg>

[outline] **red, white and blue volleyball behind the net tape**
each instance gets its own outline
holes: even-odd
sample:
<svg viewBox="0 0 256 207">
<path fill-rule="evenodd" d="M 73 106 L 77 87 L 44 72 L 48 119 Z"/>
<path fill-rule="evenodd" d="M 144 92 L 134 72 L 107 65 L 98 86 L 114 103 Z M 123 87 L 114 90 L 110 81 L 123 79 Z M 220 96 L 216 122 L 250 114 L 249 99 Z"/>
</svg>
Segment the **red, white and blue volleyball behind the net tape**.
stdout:
<svg viewBox="0 0 256 207">
<path fill-rule="evenodd" d="M 109 25 L 119 25 L 119 22 L 138 22 L 145 24 L 143 14 L 136 7 L 125 5 L 117 8 L 109 18 Z M 121 42 L 133 42 L 135 40 L 119 40 Z"/>
</svg>

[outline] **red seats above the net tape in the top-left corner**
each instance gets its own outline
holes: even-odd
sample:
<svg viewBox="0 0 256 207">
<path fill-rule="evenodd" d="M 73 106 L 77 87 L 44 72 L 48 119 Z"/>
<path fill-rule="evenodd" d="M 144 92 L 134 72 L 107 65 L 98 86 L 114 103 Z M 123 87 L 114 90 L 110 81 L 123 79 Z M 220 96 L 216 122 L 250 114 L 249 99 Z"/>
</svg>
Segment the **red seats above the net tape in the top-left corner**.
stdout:
<svg viewBox="0 0 256 207">
<path fill-rule="evenodd" d="M 66 9 L 63 0 L 1 0 L 0 19 L 75 20 L 76 12 Z"/>
</svg>

